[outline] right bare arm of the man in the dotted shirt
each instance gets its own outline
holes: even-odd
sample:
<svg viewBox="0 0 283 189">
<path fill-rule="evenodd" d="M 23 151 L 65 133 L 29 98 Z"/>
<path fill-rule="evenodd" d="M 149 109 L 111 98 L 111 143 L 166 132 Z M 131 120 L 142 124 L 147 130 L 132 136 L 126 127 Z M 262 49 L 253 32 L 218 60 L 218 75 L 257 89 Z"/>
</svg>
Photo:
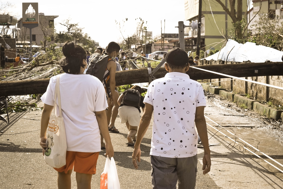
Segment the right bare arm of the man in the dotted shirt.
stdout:
<svg viewBox="0 0 283 189">
<path fill-rule="evenodd" d="M 200 136 L 201 143 L 204 149 L 202 170 L 203 170 L 203 174 L 205 175 L 210 171 L 211 160 L 210 160 L 210 149 L 208 145 L 206 121 L 204 117 L 204 106 L 199 106 L 196 108 L 195 123 L 196 123 L 196 128 L 198 130 L 198 135 Z"/>
</svg>

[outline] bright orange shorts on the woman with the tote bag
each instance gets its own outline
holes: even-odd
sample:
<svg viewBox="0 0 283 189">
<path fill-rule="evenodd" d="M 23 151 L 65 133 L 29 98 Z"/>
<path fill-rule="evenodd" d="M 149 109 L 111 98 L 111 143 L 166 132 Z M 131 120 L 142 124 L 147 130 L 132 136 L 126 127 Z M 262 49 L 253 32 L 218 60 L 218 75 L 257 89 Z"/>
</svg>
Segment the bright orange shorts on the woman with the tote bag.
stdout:
<svg viewBox="0 0 283 189">
<path fill-rule="evenodd" d="M 73 170 L 78 173 L 95 174 L 96 164 L 99 152 L 73 152 L 67 151 L 66 153 L 66 165 L 60 168 L 54 168 L 58 172 L 67 174 L 69 170 Z"/>
</svg>

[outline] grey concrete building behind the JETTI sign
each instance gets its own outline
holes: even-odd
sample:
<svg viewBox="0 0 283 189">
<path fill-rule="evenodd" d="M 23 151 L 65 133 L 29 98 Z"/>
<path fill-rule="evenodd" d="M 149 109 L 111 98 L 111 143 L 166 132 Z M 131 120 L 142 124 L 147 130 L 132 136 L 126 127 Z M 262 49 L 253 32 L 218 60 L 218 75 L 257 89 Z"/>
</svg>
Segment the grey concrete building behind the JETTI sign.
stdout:
<svg viewBox="0 0 283 189">
<path fill-rule="evenodd" d="M 39 23 L 38 27 L 31 29 L 32 32 L 32 42 L 34 45 L 44 45 L 44 37 L 49 36 L 51 41 L 46 42 L 46 46 L 50 43 L 54 43 L 54 19 L 59 16 L 44 16 L 44 13 L 39 13 Z M 18 20 L 18 39 L 21 41 L 29 41 L 29 28 L 23 27 L 23 20 L 20 18 Z"/>
</svg>

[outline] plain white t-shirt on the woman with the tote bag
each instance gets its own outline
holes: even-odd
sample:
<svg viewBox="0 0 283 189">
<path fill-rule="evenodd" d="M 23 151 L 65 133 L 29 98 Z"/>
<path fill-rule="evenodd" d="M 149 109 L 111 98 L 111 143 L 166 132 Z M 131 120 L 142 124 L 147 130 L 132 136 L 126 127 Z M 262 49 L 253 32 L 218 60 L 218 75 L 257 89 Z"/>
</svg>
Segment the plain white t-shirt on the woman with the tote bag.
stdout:
<svg viewBox="0 0 283 189">
<path fill-rule="evenodd" d="M 44 104 L 54 106 L 56 78 L 50 78 L 47 90 L 41 97 Z M 101 81 L 88 74 L 64 73 L 60 75 L 59 87 L 67 151 L 100 152 L 100 130 L 95 111 L 108 107 Z M 58 100 L 56 104 L 59 112 Z"/>
</svg>

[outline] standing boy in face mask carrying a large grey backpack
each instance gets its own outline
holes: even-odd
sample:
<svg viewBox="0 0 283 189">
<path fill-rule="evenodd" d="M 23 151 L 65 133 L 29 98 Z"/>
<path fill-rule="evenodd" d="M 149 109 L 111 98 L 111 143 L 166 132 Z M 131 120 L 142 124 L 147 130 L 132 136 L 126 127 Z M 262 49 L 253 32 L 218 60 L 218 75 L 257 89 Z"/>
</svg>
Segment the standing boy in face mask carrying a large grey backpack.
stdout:
<svg viewBox="0 0 283 189">
<path fill-rule="evenodd" d="M 106 94 L 108 96 L 108 110 L 106 110 L 108 130 L 116 133 L 119 132 L 114 126 L 115 119 L 118 115 L 117 99 L 119 97 L 119 93 L 118 91 L 115 91 L 115 72 L 117 69 L 115 57 L 119 55 L 120 49 L 121 48 L 118 43 L 110 42 L 106 48 L 107 55 L 100 55 L 99 53 L 94 53 L 91 55 L 89 58 L 88 70 L 86 72 L 87 74 L 97 77 L 104 85 Z M 115 108 L 115 106 L 117 106 L 117 108 Z M 117 109 L 117 111 L 112 112 L 112 108 L 113 110 Z M 111 117 L 112 122 L 110 123 Z M 101 149 L 105 149 L 103 136 L 100 136 Z"/>
</svg>

